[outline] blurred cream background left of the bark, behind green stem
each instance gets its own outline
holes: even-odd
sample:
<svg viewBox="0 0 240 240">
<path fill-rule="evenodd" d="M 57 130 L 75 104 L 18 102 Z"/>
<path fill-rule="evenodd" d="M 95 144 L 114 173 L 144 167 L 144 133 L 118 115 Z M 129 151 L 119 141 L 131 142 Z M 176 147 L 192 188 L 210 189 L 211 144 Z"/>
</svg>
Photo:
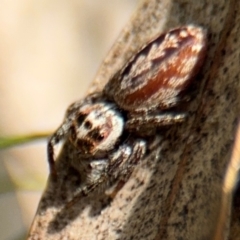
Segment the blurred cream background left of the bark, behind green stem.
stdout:
<svg viewBox="0 0 240 240">
<path fill-rule="evenodd" d="M 52 132 L 138 0 L 0 0 L 0 137 Z M 46 184 L 46 140 L 0 151 L 0 239 L 24 239 Z"/>
</svg>

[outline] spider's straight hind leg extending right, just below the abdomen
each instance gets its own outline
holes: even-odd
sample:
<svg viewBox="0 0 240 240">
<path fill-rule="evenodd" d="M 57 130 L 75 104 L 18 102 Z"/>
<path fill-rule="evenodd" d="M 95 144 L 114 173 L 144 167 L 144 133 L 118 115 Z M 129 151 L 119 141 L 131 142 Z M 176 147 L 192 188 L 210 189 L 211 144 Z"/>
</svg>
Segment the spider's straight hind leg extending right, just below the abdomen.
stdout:
<svg viewBox="0 0 240 240">
<path fill-rule="evenodd" d="M 130 132 L 147 133 L 159 127 L 181 123 L 187 118 L 186 113 L 178 112 L 153 112 L 143 115 L 131 115 L 125 124 Z"/>
</svg>

